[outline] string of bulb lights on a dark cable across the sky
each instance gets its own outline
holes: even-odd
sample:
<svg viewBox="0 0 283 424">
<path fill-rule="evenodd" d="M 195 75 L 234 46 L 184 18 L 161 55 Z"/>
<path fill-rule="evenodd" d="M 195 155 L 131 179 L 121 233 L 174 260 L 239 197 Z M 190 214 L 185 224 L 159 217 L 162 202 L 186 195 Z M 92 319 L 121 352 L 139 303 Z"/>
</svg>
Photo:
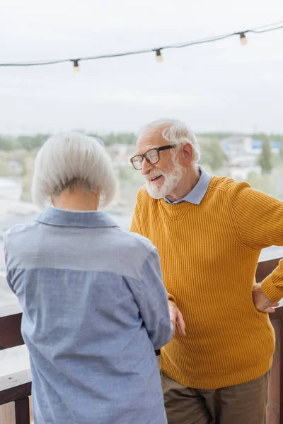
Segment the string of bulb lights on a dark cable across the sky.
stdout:
<svg viewBox="0 0 283 424">
<path fill-rule="evenodd" d="M 275 26 L 276 25 L 276 26 Z M 271 27 L 271 28 L 270 28 Z M 258 28 L 253 28 L 250 30 L 241 31 L 239 33 L 231 33 L 231 34 L 224 34 L 224 35 L 218 35 L 216 37 L 207 37 L 202 38 L 200 40 L 192 40 L 189 42 L 183 42 L 178 43 L 175 45 L 166 45 L 163 47 L 151 48 L 151 49 L 144 49 L 144 50 L 134 50 L 132 52 L 120 52 L 120 53 L 114 53 L 114 54 L 102 54 L 100 56 L 90 56 L 90 57 L 81 57 L 79 59 L 54 59 L 54 60 L 48 60 L 48 61 L 28 61 L 28 62 L 14 62 L 14 63 L 0 63 L 1 66 L 44 66 L 44 65 L 54 65 L 54 64 L 63 64 L 69 61 L 72 61 L 74 63 L 74 72 L 79 72 L 79 61 L 81 60 L 98 60 L 98 59 L 108 59 L 110 57 L 124 57 L 124 56 L 132 56 L 134 54 L 144 54 L 144 53 L 150 53 L 155 52 L 156 53 L 156 61 L 161 62 L 163 60 L 163 57 L 161 55 L 161 50 L 164 49 L 181 49 L 184 47 L 190 47 L 193 45 L 200 45 L 200 44 L 206 44 L 209 42 L 216 42 L 219 40 L 225 40 L 226 38 L 233 37 L 235 35 L 240 35 L 241 45 L 246 45 L 248 40 L 246 38 L 247 33 L 254 33 L 254 34 L 261 34 L 261 33 L 267 33 L 269 31 L 275 31 L 280 30 L 283 28 L 283 20 L 277 23 L 270 23 L 268 25 L 263 25 Z"/>
</svg>

